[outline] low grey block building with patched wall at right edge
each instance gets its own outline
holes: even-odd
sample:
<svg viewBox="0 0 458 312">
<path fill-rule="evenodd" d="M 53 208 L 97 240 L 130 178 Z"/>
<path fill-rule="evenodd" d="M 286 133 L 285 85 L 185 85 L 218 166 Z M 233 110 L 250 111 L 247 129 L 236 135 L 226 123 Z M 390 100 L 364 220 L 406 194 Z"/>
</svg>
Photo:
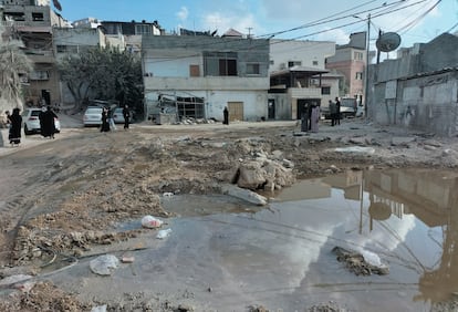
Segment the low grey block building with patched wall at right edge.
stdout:
<svg viewBox="0 0 458 312">
<path fill-rule="evenodd" d="M 368 117 L 381 124 L 457 135 L 457 50 L 458 37 L 443 33 L 400 59 L 371 65 Z"/>
</svg>

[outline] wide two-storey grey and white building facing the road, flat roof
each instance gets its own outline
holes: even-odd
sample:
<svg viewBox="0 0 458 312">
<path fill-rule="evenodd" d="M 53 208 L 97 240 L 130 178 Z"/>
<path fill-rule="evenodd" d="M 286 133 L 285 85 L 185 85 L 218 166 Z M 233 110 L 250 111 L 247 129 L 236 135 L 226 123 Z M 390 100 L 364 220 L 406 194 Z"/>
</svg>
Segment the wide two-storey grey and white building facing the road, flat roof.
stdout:
<svg viewBox="0 0 458 312">
<path fill-rule="evenodd" d="M 267 117 L 269 40 L 144 35 L 142 56 L 147 116 Z"/>
</svg>

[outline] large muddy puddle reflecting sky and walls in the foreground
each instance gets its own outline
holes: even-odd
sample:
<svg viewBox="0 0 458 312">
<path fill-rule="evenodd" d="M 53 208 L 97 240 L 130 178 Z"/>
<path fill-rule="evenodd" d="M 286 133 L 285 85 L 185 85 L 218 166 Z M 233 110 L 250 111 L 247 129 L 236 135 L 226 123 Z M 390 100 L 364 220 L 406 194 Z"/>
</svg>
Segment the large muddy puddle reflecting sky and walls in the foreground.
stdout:
<svg viewBox="0 0 458 312">
<path fill-rule="evenodd" d="M 218 196 L 167 198 L 165 207 L 181 211 L 166 225 L 170 237 L 139 238 L 146 249 L 110 279 L 73 272 L 73 290 L 102 302 L 125 288 L 179 293 L 170 300 L 196 311 L 304 311 L 330 301 L 350 311 L 456 311 L 458 174 L 348 171 L 272 196 L 263 209 Z M 336 246 L 389 274 L 355 275 L 336 261 Z M 72 289 L 69 273 L 64 281 Z"/>
</svg>

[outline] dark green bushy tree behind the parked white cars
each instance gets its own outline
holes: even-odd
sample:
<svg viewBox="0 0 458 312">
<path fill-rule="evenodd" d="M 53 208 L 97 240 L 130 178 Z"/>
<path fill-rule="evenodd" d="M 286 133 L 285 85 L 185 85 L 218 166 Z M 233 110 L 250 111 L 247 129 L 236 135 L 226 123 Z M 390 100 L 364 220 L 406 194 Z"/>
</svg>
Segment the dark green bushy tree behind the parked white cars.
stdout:
<svg viewBox="0 0 458 312">
<path fill-rule="evenodd" d="M 143 107 L 142 64 L 127 51 L 91 48 L 62 60 L 59 71 L 77 110 L 89 97 Z"/>
</svg>

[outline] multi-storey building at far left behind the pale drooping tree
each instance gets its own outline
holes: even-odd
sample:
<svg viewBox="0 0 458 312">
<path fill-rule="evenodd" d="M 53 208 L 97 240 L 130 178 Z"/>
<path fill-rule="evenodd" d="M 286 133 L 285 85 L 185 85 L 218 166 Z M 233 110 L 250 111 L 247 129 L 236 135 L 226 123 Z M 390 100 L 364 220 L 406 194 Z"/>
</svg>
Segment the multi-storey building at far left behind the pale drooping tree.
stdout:
<svg viewBox="0 0 458 312">
<path fill-rule="evenodd" d="M 33 72 L 23 81 L 25 103 L 60 102 L 52 27 L 66 22 L 50 8 L 49 1 L 3 0 L 2 23 L 9 28 L 12 38 L 23 42 L 23 50 L 33 62 Z"/>
</svg>

